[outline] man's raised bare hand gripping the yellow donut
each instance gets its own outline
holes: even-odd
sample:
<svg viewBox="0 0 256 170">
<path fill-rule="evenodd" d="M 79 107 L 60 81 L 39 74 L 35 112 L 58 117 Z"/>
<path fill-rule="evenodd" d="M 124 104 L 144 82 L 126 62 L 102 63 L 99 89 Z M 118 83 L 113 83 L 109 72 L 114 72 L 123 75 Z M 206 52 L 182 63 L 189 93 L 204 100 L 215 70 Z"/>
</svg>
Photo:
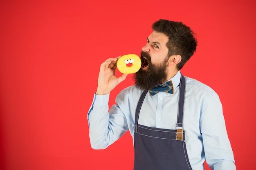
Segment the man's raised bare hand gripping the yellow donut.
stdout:
<svg viewBox="0 0 256 170">
<path fill-rule="evenodd" d="M 121 57 L 121 56 L 119 56 Z M 117 68 L 116 58 L 109 58 L 101 64 L 98 78 L 98 88 L 96 91 L 97 95 L 106 95 L 112 91 L 117 84 L 124 81 L 128 74 L 123 74 L 120 77 L 115 76 L 115 69 Z"/>
</svg>

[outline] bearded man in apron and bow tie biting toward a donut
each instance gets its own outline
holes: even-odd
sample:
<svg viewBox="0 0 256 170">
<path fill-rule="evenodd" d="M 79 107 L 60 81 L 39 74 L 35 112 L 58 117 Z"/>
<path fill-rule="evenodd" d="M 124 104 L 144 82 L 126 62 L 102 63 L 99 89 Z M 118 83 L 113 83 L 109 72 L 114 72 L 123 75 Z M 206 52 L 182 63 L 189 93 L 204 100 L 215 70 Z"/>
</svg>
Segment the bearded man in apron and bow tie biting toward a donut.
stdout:
<svg viewBox="0 0 256 170">
<path fill-rule="evenodd" d="M 109 93 L 127 74 L 115 76 L 119 57 L 101 64 L 88 112 L 92 148 L 107 148 L 129 130 L 134 170 L 204 170 L 205 160 L 211 170 L 236 170 L 218 95 L 180 72 L 197 46 L 193 31 L 169 20 L 152 29 L 135 85 L 117 95 L 109 112 Z"/>
</svg>

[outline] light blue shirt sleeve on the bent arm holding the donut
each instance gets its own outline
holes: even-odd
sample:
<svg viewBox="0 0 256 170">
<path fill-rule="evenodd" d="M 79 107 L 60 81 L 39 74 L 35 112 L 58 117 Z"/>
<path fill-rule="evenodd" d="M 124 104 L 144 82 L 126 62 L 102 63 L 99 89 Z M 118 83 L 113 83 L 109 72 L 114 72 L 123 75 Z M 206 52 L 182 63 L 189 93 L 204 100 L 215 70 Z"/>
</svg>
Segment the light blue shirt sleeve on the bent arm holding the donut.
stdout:
<svg viewBox="0 0 256 170">
<path fill-rule="evenodd" d="M 108 107 L 109 95 L 94 95 L 88 112 L 89 137 L 93 149 L 105 149 L 113 144 L 128 130 L 126 117 L 114 105 Z"/>
</svg>

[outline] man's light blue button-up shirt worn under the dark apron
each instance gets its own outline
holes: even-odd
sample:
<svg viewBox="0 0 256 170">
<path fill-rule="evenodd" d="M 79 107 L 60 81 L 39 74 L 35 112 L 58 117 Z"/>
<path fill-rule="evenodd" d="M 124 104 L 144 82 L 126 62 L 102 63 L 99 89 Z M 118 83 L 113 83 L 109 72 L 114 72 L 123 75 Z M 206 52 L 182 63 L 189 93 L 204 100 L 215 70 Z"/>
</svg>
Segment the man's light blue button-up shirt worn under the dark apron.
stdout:
<svg viewBox="0 0 256 170">
<path fill-rule="evenodd" d="M 146 94 L 138 123 L 144 126 L 175 129 L 180 91 L 180 71 L 171 78 L 174 93 Z M 227 136 L 222 104 L 216 92 L 195 79 L 185 77 L 184 130 L 186 148 L 193 170 L 236 170 L 234 155 Z M 129 86 L 116 97 L 116 105 L 108 107 L 109 94 L 94 95 L 88 113 L 90 142 L 94 149 L 113 144 L 128 130 L 134 135 L 135 110 L 143 91 Z M 109 110 L 109 112 L 108 112 Z"/>
</svg>

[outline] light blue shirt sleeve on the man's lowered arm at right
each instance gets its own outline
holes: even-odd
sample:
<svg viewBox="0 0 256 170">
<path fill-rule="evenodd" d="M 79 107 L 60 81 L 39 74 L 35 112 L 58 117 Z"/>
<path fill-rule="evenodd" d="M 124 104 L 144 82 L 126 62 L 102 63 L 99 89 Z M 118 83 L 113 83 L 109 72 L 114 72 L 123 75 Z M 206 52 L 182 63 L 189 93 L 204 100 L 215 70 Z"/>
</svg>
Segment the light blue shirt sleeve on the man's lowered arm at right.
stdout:
<svg viewBox="0 0 256 170">
<path fill-rule="evenodd" d="M 215 92 L 204 100 L 201 114 L 201 133 L 208 166 L 211 170 L 236 170 L 222 104 Z"/>
</svg>

